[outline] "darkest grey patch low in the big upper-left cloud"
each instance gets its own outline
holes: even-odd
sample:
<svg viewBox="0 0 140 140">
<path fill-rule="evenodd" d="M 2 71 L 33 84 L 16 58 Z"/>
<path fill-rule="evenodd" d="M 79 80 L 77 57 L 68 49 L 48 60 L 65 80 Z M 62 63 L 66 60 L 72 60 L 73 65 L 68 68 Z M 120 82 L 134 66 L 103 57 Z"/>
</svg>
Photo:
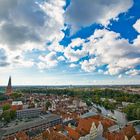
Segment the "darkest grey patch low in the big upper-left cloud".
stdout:
<svg viewBox="0 0 140 140">
<path fill-rule="evenodd" d="M 14 24 L 4 24 L 0 29 L 0 41 L 3 44 L 17 45 L 26 41 L 39 41 L 37 34 L 32 32 L 28 27 L 16 26 Z"/>
</svg>

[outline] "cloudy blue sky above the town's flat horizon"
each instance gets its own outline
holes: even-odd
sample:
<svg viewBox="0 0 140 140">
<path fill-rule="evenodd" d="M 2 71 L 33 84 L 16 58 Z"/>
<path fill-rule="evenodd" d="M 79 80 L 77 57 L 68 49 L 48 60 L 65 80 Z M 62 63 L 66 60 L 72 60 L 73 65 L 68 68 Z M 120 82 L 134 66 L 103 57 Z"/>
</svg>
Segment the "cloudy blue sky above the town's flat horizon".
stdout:
<svg viewBox="0 0 140 140">
<path fill-rule="evenodd" d="M 139 0 L 0 0 L 0 85 L 140 84 Z"/>
</svg>

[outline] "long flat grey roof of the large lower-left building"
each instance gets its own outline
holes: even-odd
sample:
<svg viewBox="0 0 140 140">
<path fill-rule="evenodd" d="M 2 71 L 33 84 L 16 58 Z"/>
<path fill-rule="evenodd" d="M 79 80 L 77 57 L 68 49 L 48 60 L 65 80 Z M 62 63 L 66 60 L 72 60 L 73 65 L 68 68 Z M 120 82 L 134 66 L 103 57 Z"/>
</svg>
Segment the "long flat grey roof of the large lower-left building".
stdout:
<svg viewBox="0 0 140 140">
<path fill-rule="evenodd" d="M 0 137 L 10 135 L 19 131 L 23 131 L 25 129 L 30 129 L 32 127 L 36 127 L 44 123 L 49 123 L 57 119 L 60 119 L 58 115 L 48 114 L 48 115 L 44 115 L 43 117 L 33 119 L 32 121 L 29 121 L 29 122 L 24 122 L 24 123 L 21 122 L 18 125 L 0 128 Z"/>
</svg>

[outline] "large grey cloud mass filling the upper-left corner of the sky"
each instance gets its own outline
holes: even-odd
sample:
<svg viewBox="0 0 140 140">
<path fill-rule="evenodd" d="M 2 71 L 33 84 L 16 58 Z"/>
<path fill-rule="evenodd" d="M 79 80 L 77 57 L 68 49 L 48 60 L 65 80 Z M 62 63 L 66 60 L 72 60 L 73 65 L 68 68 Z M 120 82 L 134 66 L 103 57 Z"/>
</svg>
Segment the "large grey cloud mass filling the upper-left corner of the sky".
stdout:
<svg viewBox="0 0 140 140">
<path fill-rule="evenodd" d="M 42 0 L 43 1 L 43 0 Z M 0 0 L 0 43 L 9 49 L 26 42 L 41 42 L 47 17 L 37 0 Z"/>
</svg>

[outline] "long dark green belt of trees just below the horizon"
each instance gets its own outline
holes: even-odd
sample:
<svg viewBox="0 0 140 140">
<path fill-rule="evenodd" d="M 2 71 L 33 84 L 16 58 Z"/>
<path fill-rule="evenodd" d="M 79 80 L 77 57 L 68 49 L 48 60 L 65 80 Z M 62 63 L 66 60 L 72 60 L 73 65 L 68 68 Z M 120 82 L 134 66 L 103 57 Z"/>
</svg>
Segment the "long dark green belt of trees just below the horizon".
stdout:
<svg viewBox="0 0 140 140">
<path fill-rule="evenodd" d="M 21 93 L 44 93 L 44 94 L 66 94 L 70 96 L 78 96 L 81 98 L 98 96 L 102 98 L 113 98 L 118 102 L 140 102 L 140 95 L 128 94 L 120 90 L 114 89 L 94 89 L 94 88 L 23 88 L 19 89 Z"/>
</svg>

